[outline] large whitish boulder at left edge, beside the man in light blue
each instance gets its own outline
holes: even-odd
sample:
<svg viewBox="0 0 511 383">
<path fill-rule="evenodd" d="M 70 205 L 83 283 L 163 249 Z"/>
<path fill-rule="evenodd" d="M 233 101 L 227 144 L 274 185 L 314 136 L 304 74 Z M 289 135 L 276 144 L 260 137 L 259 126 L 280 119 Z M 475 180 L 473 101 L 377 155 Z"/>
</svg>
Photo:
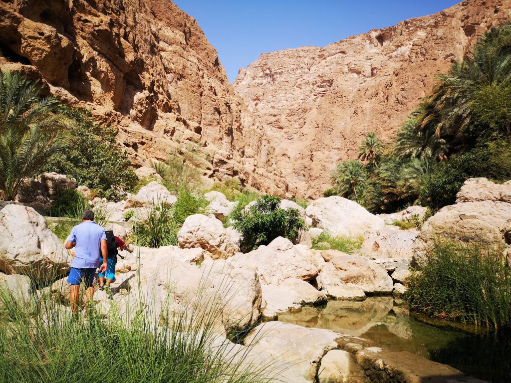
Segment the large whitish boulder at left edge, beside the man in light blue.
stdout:
<svg viewBox="0 0 511 383">
<path fill-rule="evenodd" d="M 45 282 L 66 274 L 71 257 L 44 217 L 33 208 L 10 204 L 0 210 L 0 271 Z"/>
</svg>

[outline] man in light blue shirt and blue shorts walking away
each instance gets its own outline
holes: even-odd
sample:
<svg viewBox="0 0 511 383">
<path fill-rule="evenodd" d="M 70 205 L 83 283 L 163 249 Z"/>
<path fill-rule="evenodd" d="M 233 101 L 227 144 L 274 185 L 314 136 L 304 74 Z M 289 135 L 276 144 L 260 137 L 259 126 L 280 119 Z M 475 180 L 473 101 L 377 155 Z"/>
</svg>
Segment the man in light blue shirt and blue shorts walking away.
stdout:
<svg viewBox="0 0 511 383">
<path fill-rule="evenodd" d="M 107 267 L 108 250 L 106 246 L 105 229 L 94 222 L 94 211 L 85 210 L 82 214 L 82 223 L 73 227 L 71 234 L 67 237 L 66 249 L 75 248 L 75 259 L 71 264 L 71 271 L 67 281 L 71 284 L 69 301 L 73 313 L 78 312 L 78 297 L 80 295 L 80 283 L 86 287 L 87 302 L 92 302 L 94 297 L 94 275 L 98 268 L 100 254 L 103 257 L 103 264 L 100 266 L 100 273 L 105 272 Z"/>
</svg>

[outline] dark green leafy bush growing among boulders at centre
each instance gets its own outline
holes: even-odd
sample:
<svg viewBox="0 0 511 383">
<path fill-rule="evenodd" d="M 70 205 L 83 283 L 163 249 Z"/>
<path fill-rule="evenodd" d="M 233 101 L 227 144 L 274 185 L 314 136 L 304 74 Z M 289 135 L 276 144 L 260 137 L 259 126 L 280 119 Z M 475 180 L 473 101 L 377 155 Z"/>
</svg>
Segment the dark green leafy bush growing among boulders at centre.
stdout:
<svg viewBox="0 0 511 383">
<path fill-rule="evenodd" d="M 268 245 L 276 237 L 282 236 L 294 241 L 305 222 L 296 209 L 281 209 L 281 199 L 263 196 L 248 211 L 240 211 L 234 217 L 234 227 L 242 234 L 243 251 Z"/>
</svg>

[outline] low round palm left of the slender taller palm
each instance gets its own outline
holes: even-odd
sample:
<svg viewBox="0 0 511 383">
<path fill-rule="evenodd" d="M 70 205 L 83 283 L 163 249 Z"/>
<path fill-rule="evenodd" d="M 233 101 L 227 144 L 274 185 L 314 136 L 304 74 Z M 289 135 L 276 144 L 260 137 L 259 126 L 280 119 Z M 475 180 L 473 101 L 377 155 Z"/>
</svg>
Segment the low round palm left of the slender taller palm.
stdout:
<svg viewBox="0 0 511 383">
<path fill-rule="evenodd" d="M 339 162 L 331 176 L 336 193 L 346 198 L 352 195 L 357 198 L 366 181 L 364 165 L 357 160 Z"/>
</svg>

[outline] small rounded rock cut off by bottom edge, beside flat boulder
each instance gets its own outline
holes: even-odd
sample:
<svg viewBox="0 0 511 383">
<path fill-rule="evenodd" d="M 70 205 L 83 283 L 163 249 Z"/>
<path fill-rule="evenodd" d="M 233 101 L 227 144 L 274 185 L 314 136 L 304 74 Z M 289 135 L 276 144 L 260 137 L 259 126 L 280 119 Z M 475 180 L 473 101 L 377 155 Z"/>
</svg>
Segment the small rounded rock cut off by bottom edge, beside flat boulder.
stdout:
<svg viewBox="0 0 511 383">
<path fill-rule="evenodd" d="M 369 382 L 351 352 L 330 350 L 323 356 L 318 370 L 319 383 Z"/>
</svg>

